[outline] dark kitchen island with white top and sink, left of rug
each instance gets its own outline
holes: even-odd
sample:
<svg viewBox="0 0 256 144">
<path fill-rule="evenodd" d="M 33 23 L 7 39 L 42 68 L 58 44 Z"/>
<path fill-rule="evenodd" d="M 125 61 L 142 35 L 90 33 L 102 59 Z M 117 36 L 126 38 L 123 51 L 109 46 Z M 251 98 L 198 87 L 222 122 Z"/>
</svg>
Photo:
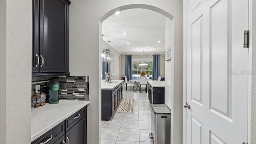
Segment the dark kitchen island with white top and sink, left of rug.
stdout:
<svg viewBox="0 0 256 144">
<path fill-rule="evenodd" d="M 122 95 L 122 83 L 124 80 L 101 81 L 101 119 L 109 120 L 120 104 Z"/>
</svg>

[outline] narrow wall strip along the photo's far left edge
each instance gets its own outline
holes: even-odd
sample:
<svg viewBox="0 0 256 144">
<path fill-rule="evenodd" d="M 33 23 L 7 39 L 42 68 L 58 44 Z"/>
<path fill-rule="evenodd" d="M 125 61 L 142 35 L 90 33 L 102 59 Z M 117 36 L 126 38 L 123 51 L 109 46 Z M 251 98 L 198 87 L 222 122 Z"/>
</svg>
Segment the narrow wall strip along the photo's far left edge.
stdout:
<svg viewBox="0 0 256 144">
<path fill-rule="evenodd" d="M 6 143 L 6 0 L 0 0 L 0 140 Z"/>
</svg>

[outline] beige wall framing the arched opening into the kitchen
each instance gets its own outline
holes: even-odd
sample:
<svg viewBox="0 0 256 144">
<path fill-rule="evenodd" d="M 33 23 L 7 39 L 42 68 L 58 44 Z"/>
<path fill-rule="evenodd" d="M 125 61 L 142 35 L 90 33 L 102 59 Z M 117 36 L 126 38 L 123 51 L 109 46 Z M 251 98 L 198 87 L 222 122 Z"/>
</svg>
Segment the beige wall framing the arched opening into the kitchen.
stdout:
<svg viewBox="0 0 256 144">
<path fill-rule="evenodd" d="M 90 76 L 90 104 L 88 105 L 87 130 L 89 144 L 100 143 L 100 116 L 101 116 L 101 91 L 99 90 L 101 81 L 100 70 L 100 48 L 101 48 L 101 22 L 106 19 L 110 12 L 116 8 L 152 8 L 150 10 L 159 10 L 159 13 L 168 13 L 173 16 L 173 30 L 170 43 L 174 48 L 174 59 L 166 62 L 170 64 L 170 76 L 166 78 L 172 80 L 172 87 L 166 88 L 166 95 L 172 105 L 172 109 L 177 110 L 174 122 L 179 127 L 172 137 L 177 142 L 182 141 L 182 34 L 183 34 L 183 4 L 181 0 L 164 0 L 159 2 L 156 0 L 140 1 L 129 0 L 96 0 L 84 1 L 74 0 L 70 5 L 70 73 L 77 76 Z M 157 12 L 157 11 L 156 11 Z M 109 14 L 108 14 L 109 13 Z M 165 14 L 164 14 L 165 15 Z M 166 16 L 170 17 L 170 16 Z M 98 56 L 98 57 L 97 57 Z M 177 67 L 177 68 L 176 68 Z M 179 67 L 179 68 L 178 68 Z M 98 72 L 98 73 L 97 73 Z M 174 77 L 175 75 L 175 77 Z M 174 90 L 174 87 L 175 90 Z M 98 120 L 98 121 L 97 121 Z"/>
</svg>

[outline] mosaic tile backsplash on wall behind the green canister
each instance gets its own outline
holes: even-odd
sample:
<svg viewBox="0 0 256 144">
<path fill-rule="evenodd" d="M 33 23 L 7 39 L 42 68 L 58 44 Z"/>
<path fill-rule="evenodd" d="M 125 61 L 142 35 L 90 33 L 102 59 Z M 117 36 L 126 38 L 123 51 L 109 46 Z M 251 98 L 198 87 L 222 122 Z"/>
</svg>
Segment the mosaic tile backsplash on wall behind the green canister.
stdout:
<svg viewBox="0 0 256 144">
<path fill-rule="evenodd" d="M 89 76 L 53 77 L 52 82 L 60 82 L 59 99 L 89 100 Z"/>
</svg>

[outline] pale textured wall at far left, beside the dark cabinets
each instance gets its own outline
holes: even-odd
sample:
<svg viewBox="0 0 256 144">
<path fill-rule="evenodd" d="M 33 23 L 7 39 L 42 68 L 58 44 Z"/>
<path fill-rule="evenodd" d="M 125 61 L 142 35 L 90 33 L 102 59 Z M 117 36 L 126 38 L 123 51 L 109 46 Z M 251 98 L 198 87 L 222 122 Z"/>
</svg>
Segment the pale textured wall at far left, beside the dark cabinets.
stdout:
<svg viewBox="0 0 256 144">
<path fill-rule="evenodd" d="M 1 0 L 0 13 L 0 143 L 29 144 L 32 1 Z"/>
</svg>

